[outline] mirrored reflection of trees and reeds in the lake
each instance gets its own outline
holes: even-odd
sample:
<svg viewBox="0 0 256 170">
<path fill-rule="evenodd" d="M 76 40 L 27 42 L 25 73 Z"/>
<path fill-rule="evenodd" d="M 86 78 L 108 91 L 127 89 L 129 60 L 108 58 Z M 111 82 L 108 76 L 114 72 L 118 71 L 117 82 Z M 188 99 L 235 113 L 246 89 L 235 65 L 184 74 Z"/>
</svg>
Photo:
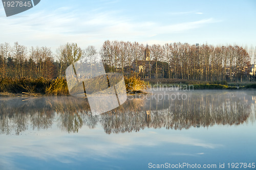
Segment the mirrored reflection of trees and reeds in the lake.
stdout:
<svg viewBox="0 0 256 170">
<path fill-rule="evenodd" d="M 92 116 L 86 99 L 72 96 L 0 98 L 1 133 L 19 135 L 30 127 L 33 130 L 52 128 L 55 122 L 69 133 L 78 132 L 82 126 L 94 129 L 101 124 L 105 133 L 111 134 L 137 132 L 146 127 L 181 130 L 216 124 L 239 125 L 255 119 L 254 91 L 182 93 L 186 94 L 186 100 L 159 100 L 152 94 L 130 96 L 121 107 L 97 116 Z"/>
</svg>

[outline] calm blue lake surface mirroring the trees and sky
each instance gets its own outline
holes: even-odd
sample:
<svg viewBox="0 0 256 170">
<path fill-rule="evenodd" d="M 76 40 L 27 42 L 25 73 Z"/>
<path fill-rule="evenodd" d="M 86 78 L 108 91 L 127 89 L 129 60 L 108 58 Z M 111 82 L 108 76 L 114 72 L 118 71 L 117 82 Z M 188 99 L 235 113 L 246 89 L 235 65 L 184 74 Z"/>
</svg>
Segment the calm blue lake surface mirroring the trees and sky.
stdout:
<svg viewBox="0 0 256 170">
<path fill-rule="evenodd" d="M 234 169 L 256 163 L 255 103 L 251 90 L 159 89 L 91 116 L 86 99 L 2 97 L 0 169 Z"/>
</svg>

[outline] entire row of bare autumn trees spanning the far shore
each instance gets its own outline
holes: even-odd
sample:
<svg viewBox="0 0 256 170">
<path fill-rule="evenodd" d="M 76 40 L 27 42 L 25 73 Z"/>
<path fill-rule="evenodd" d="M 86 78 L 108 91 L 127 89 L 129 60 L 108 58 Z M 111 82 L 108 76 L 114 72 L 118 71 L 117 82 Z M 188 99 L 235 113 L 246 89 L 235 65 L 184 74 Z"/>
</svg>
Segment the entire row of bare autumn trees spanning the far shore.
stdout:
<svg viewBox="0 0 256 170">
<path fill-rule="evenodd" d="M 0 44 L 0 77 L 46 78 L 65 76 L 66 68 L 82 58 L 100 57 L 106 72 L 122 72 L 142 78 L 169 78 L 201 81 L 248 80 L 251 56 L 239 45 L 213 46 L 208 44 L 166 43 L 148 45 L 149 68 L 145 68 L 146 45 L 138 42 L 105 41 L 97 52 L 94 46 L 85 49 L 76 43 L 51 48 L 26 47 L 15 42 Z M 255 59 L 252 59 L 252 62 Z M 141 72 L 139 64 L 144 70 Z"/>
</svg>

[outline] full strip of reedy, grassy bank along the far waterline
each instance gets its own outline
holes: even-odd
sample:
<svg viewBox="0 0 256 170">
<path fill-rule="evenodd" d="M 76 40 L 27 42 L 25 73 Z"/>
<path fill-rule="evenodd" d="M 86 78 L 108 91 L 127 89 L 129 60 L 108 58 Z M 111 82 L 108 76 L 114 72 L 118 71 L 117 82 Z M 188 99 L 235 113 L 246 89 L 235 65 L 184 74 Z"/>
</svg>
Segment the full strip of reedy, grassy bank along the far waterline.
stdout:
<svg viewBox="0 0 256 170">
<path fill-rule="evenodd" d="M 144 93 L 150 87 L 173 87 L 176 89 L 256 89 L 256 82 L 201 82 L 183 79 L 151 79 L 141 80 L 137 77 L 124 77 L 126 92 L 129 94 Z M 10 79 L 0 78 L 0 96 L 42 96 L 42 95 L 69 95 L 65 78 L 48 80 L 39 79 Z"/>
</svg>

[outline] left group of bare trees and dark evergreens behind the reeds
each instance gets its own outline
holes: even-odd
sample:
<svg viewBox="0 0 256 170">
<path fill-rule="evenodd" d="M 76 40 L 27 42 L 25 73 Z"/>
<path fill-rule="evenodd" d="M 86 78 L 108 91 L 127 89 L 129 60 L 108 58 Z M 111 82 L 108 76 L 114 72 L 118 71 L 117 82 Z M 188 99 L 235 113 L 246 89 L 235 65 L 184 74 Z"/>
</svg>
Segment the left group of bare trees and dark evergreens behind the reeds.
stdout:
<svg viewBox="0 0 256 170">
<path fill-rule="evenodd" d="M 58 63 L 49 47 L 31 47 L 15 42 L 0 44 L 0 77 L 46 78 L 56 77 Z"/>
</svg>

